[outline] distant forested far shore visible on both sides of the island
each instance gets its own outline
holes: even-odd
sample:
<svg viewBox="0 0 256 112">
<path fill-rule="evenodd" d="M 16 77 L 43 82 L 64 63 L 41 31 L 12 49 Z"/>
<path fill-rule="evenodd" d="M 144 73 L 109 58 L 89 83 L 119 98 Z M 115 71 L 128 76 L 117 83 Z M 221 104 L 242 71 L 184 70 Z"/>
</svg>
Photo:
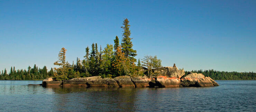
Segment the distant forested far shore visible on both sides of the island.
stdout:
<svg viewBox="0 0 256 112">
<path fill-rule="evenodd" d="M 11 67 L 10 72 L 7 70 L 0 71 L 0 80 L 43 80 L 47 77 L 53 77 L 54 70 L 47 70 L 46 66 L 42 69 L 34 65 L 30 70 L 18 69 Z M 185 75 L 189 71 L 185 71 Z M 255 72 L 236 72 L 236 71 L 218 71 L 218 70 L 192 70 L 191 72 L 201 73 L 205 77 L 211 77 L 213 80 L 256 80 Z"/>
</svg>

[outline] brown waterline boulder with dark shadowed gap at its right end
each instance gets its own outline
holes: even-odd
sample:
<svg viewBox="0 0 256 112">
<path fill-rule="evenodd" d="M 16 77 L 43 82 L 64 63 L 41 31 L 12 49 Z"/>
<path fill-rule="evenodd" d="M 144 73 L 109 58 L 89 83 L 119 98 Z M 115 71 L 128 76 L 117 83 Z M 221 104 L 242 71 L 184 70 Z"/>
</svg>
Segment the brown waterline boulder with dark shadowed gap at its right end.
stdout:
<svg viewBox="0 0 256 112">
<path fill-rule="evenodd" d="M 131 77 L 131 81 L 134 83 L 135 87 L 155 87 L 155 78 L 147 77 Z"/>
</svg>

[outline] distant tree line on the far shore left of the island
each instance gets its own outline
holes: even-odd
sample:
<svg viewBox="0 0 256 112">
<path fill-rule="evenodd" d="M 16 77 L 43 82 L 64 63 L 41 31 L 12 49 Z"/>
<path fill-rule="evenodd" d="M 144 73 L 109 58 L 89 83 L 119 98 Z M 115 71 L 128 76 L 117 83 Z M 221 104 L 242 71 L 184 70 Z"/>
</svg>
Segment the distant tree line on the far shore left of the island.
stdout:
<svg viewBox="0 0 256 112">
<path fill-rule="evenodd" d="M 11 67 L 10 72 L 8 73 L 6 69 L 2 70 L 2 72 L 0 71 L 0 80 L 40 80 L 47 77 L 52 77 L 53 74 L 53 68 L 47 71 L 46 66 L 44 66 L 42 69 L 38 68 L 36 65 L 34 65 L 33 68 L 29 66 L 28 70 L 16 70 L 15 67 Z"/>
</svg>

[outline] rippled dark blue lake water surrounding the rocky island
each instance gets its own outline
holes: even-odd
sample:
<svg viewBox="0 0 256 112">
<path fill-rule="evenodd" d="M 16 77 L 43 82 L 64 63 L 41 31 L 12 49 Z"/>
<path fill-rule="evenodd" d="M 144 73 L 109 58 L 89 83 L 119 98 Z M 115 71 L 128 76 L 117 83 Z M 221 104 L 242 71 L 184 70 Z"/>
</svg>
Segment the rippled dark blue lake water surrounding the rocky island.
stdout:
<svg viewBox="0 0 256 112">
<path fill-rule="evenodd" d="M 218 87 L 83 88 L 22 86 L 42 81 L 0 81 L 0 111 L 250 111 L 256 81 L 217 81 Z"/>
</svg>

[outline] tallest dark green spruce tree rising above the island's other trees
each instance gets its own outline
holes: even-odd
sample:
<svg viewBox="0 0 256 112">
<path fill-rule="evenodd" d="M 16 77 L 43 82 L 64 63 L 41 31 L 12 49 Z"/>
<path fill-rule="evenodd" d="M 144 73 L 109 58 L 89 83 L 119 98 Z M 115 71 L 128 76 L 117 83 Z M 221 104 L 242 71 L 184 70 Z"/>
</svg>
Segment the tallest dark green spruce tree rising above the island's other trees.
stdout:
<svg viewBox="0 0 256 112">
<path fill-rule="evenodd" d="M 123 23 L 124 26 L 121 26 L 121 28 L 124 30 L 123 34 L 122 34 L 122 43 L 121 43 L 121 47 L 122 47 L 122 52 L 125 53 L 125 57 L 129 58 L 131 60 L 131 62 L 136 62 L 136 59 L 134 58 L 137 54 L 137 51 L 132 49 L 132 42 L 130 38 L 130 25 L 129 25 L 129 21 L 126 18 L 124 20 Z"/>
</svg>

